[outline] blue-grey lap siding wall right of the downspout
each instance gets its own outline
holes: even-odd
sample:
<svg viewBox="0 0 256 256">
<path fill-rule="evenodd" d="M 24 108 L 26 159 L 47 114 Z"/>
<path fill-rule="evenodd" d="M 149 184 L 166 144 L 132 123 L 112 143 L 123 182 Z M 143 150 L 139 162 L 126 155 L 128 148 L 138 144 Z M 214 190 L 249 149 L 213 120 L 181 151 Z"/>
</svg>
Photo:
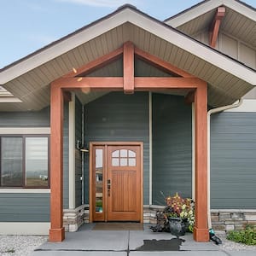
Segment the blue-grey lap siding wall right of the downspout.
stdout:
<svg viewBox="0 0 256 256">
<path fill-rule="evenodd" d="M 211 208 L 256 209 L 256 113 L 211 118 Z"/>
</svg>

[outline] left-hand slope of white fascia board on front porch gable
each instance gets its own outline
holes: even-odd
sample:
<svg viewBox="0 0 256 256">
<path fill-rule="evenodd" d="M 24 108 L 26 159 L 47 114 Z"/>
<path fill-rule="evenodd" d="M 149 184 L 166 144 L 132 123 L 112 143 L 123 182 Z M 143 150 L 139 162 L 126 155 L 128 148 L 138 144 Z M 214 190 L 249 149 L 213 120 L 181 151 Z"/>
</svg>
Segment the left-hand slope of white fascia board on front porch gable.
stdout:
<svg viewBox="0 0 256 256">
<path fill-rule="evenodd" d="M 96 38 L 116 26 L 122 25 L 128 21 L 127 12 L 129 12 L 129 9 L 124 9 L 116 15 L 96 22 L 95 25 L 84 28 L 83 31 L 74 34 L 70 38 L 64 39 L 60 43 L 56 43 L 48 49 L 44 49 L 38 54 L 32 55 L 15 66 L 3 70 L 3 72 L 0 73 L 0 84 L 6 84 L 12 79 L 31 71 L 33 68 L 43 65 L 45 62 L 51 61 L 57 56 L 65 54 L 67 51 L 90 41 L 90 39 Z"/>
</svg>

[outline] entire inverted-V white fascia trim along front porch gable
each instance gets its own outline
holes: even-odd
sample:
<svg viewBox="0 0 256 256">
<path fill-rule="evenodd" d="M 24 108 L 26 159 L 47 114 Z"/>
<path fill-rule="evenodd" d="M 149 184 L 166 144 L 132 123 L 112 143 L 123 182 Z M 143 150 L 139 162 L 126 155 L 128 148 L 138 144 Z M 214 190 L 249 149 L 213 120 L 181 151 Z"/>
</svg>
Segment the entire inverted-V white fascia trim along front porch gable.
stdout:
<svg viewBox="0 0 256 256">
<path fill-rule="evenodd" d="M 219 1 L 220 0 L 216 0 L 216 2 Z M 230 3 L 230 0 L 225 0 L 225 2 Z M 210 3 L 212 3 L 212 1 Z M 241 6 L 241 4 L 239 6 Z M 255 15 L 254 12 L 253 15 Z M 38 54 L 32 55 L 30 58 L 3 70 L 3 72 L 0 73 L 0 84 L 5 84 L 23 73 L 29 72 L 33 68 L 43 65 L 45 62 L 53 60 L 55 57 L 62 55 L 117 26 L 123 25 L 126 22 L 131 22 L 135 26 L 139 26 L 167 42 L 177 45 L 177 47 L 188 51 L 192 55 L 198 56 L 202 60 L 207 61 L 228 73 L 234 74 L 237 78 L 242 79 L 249 84 L 256 85 L 256 73 L 251 69 L 210 49 L 206 45 L 199 44 L 180 32 L 170 29 L 168 26 L 163 26 L 160 22 L 156 22 L 147 16 L 137 13 L 134 9 L 128 8 L 122 9 L 115 15 L 111 15 L 106 19 L 96 22 L 95 25 L 89 26 L 83 31 L 74 34 L 71 38 L 62 40 L 60 43 L 44 49 Z"/>
</svg>

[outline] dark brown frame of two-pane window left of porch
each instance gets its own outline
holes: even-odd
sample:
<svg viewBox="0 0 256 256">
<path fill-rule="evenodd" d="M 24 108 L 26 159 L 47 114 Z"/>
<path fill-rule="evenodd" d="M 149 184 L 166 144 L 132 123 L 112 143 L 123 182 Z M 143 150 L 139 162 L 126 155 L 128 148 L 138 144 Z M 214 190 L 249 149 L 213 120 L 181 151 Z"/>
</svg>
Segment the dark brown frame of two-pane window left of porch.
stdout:
<svg viewBox="0 0 256 256">
<path fill-rule="evenodd" d="M 4 186 L 2 184 L 2 138 L 22 138 L 22 186 Z M 48 184 L 47 186 L 26 186 L 26 137 L 47 137 L 48 138 Z M 50 188 L 50 154 L 49 134 L 0 134 L 0 189 L 49 189 Z"/>
</svg>

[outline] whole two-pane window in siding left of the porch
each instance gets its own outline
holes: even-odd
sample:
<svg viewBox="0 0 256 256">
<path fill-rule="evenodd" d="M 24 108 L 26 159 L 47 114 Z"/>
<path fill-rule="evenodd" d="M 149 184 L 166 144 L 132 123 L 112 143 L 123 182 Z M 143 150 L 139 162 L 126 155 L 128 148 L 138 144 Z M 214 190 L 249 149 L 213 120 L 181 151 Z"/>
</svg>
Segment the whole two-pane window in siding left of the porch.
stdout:
<svg viewBox="0 0 256 256">
<path fill-rule="evenodd" d="M 0 187 L 49 188 L 49 137 L 0 137 Z"/>
</svg>

